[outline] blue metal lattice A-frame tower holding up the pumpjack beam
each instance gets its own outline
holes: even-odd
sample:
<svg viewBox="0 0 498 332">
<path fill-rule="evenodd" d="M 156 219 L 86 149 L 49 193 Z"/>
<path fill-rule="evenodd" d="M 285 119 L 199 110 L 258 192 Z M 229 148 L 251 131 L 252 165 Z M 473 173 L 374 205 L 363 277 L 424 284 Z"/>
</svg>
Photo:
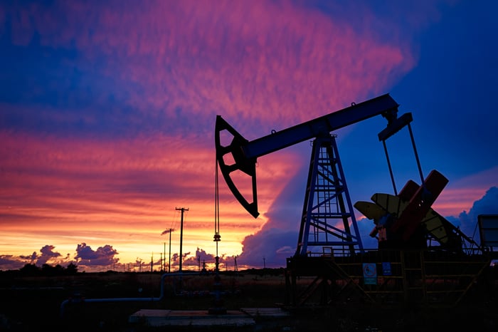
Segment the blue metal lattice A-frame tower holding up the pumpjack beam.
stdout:
<svg viewBox="0 0 498 332">
<path fill-rule="evenodd" d="M 324 135 L 313 141 L 296 256 L 349 256 L 358 251 L 363 251 L 363 244 L 335 135 Z"/>
</svg>

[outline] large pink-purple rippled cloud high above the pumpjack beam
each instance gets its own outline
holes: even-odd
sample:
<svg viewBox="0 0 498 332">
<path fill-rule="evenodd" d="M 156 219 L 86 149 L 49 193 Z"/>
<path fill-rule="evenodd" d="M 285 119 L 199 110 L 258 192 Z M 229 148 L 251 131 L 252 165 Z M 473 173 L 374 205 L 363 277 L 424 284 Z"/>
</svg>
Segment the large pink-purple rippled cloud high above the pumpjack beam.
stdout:
<svg viewBox="0 0 498 332">
<path fill-rule="evenodd" d="M 75 45 L 88 66 L 117 74 L 132 107 L 169 116 L 289 125 L 384 93 L 415 65 L 407 43 L 288 1 L 61 1 L 18 10 L 18 42 L 33 30 L 43 45 Z"/>
</svg>

